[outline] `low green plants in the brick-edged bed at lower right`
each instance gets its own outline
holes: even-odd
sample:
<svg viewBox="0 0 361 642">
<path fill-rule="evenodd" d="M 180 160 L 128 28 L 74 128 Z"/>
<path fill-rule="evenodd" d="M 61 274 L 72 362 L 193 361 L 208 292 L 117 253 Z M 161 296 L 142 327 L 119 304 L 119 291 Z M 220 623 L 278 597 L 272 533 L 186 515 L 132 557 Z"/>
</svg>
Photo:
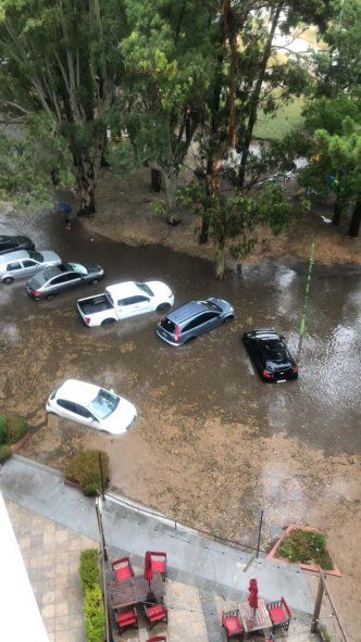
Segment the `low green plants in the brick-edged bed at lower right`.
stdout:
<svg viewBox="0 0 361 642">
<path fill-rule="evenodd" d="M 321 532 L 296 528 L 284 539 L 276 552 L 276 557 L 320 565 L 324 570 L 332 570 L 333 563 L 326 547 L 326 538 Z"/>
</svg>

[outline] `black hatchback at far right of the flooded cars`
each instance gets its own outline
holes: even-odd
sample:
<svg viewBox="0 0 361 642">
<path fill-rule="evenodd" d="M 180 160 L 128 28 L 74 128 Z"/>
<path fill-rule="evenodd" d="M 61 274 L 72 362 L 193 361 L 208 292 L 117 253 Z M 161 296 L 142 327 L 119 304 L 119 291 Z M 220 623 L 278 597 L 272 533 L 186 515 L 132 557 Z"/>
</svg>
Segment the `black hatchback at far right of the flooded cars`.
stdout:
<svg viewBox="0 0 361 642">
<path fill-rule="evenodd" d="M 286 381 L 298 377 L 298 367 L 284 339 L 267 329 L 244 333 L 248 354 L 263 381 Z"/>
</svg>

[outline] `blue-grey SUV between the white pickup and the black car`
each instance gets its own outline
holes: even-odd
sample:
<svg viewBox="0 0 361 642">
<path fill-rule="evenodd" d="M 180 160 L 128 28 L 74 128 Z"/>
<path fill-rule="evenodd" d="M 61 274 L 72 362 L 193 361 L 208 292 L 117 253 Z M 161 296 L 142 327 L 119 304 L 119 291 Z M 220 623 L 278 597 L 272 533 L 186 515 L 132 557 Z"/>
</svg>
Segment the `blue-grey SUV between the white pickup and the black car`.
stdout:
<svg viewBox="0 0 361 642">
<path fill-rule="evenodd" d="M 223 299 L 189 301 L 162 318 L 157 335 L 166 343 L 178 347 L 232 318 L 234 309 Z"/>
</svg>

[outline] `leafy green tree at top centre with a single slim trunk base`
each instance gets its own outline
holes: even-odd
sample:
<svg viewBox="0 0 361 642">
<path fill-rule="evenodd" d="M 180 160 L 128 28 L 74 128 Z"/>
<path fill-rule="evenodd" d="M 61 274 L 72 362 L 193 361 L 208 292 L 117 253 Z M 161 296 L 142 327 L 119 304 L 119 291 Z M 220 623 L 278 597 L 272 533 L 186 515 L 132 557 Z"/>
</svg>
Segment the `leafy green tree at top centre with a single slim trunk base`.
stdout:
<svg viewBox="0 0 361 642">
<path fill-rule="evenodd" d="M 137 163 L 161 174 L 166 218 L 176 225 L 179 169 L 203 121 L 213 73 L 212 13 L 201 0 L 125 0 L 125 8 L 129 35 L 122 42 L 120 118 Z"/>
</svg>

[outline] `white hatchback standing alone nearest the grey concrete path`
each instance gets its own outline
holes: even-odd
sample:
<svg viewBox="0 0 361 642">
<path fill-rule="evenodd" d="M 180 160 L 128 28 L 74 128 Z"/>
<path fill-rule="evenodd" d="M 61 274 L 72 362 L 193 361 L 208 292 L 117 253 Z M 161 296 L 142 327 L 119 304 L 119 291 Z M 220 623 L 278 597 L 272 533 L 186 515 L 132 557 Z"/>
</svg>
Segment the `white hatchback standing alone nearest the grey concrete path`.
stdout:
<svg viewBox="0 0 361 642">
<path fill-rule="evenodd" d="M 46 408 L 60 417 L 112 435 L 128 430 L 137 416 L 133 403 L 99 386 L 67 379 L 50 394 Z"/>
</svg>

